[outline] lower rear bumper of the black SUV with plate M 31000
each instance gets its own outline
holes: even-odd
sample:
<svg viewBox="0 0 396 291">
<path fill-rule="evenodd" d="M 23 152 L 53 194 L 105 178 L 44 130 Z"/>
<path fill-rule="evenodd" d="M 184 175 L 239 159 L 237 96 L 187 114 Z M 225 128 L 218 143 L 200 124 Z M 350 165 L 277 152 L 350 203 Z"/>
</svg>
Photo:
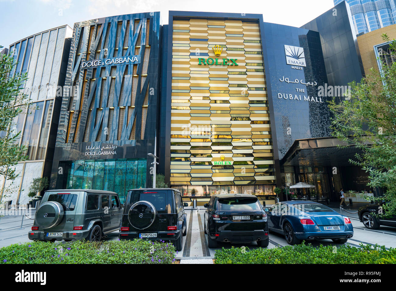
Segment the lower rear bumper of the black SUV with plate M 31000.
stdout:
<svg viewBox="0 0 396 291">
<path fill-rule="evenodd" d="M 218 236 L 217 236 L 218 235 Z M 268 240 L 268 231 L 264 230 L 247 230 L 247 231 L 234 231 L 222 230 L 214 236 L 210 236 L 217 242 L 232 242 L 232 243 L 247 243 L 257 242 L 259 240 Z"/>
</svg>

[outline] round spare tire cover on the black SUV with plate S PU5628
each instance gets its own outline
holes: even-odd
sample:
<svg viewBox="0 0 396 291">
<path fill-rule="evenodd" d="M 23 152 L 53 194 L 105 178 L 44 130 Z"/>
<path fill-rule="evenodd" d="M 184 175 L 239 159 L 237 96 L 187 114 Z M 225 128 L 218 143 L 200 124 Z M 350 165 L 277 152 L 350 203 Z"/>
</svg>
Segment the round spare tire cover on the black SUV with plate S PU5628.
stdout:
<svg viewBox="0 0 396 291">
<path fill-rule="evenodd" d="M 145 229 L 154 222 L 156 214 L 157 211 L 154 205 L 148 201 L 139 201 L 129 209 L 129 223 L 134 228 Z"/>
</svg>

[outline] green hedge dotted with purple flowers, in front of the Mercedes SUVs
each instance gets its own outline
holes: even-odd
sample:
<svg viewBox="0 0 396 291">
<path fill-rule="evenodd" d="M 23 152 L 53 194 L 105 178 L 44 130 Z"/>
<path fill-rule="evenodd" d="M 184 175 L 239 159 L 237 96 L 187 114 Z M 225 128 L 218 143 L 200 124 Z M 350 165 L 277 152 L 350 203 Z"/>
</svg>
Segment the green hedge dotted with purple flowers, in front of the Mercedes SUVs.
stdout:
<svg viewBox="0 0 396 291">
<path fill-rule="evenodd" d="M 171 243 L 121 240 L 67 243 L 29 242 L 0 248 L 0 264 L 170 264 Z"/>
</svg>

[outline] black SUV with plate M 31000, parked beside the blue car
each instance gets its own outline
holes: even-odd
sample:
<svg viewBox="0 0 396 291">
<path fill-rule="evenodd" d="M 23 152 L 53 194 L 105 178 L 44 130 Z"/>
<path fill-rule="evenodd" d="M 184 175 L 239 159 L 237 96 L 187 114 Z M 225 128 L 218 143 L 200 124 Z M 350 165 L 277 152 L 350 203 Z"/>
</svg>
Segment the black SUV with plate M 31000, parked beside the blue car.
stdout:
<svg viewBox="0 0 396 291">
<path fill-rule="evenodd" d="M 256 196 L 213 195 L 204 207 L 208 247 L 217 247 L 217 242 L 257 242 L 260 247 L 268 246 L 267 215 Z"/>
</svg>

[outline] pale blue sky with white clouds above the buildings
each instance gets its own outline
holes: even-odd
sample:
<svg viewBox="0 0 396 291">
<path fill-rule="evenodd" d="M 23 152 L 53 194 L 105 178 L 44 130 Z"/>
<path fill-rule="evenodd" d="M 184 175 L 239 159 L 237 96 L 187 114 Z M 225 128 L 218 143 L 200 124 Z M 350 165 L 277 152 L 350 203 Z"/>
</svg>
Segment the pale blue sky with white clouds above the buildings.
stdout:
<svg viewBox="0 0 396 291">
<path fill-rule="evenodd" d="M 205 11 L 263 14 L 265 22 L 300 27 L 334 6 L 333 0 L 0 0 L 0 45 L 61 25 L 139 12 Z"/>
</svg>

